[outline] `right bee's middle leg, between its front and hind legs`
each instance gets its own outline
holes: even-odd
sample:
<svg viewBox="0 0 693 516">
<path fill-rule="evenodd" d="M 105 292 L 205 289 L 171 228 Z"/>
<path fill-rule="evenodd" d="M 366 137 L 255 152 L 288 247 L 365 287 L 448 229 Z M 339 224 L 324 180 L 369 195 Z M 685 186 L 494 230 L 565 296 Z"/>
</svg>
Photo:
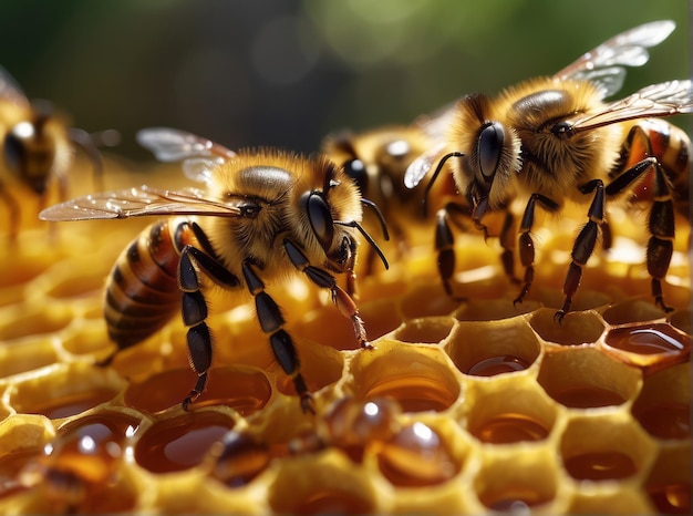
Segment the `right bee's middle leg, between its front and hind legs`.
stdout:
<svg viewBox="0 0 693 516">
<path fill-rule="evenodd" d="M 589 220 L 585 226 L 582 226 L 582 229 L 572 245 L 572 251 L 570 252 L 572 261 L 570 262 L 568 274 L 566 275 L 566 281 L 563 282 L 563 295 L 566 297 L 561 309 L 554 314 L 554 319 L 557 322 L 561 322 L 563 317 L 566 317 L 566 313 L 570 310 L 572 297 L 577 292 L 578 287 L 580 286 L 580 279 L 582 278 L 582 267 L 587 264 L 587 260 L 594 251 L 599 230 L 606 224 L 604 215 L 607 209 L 607 198 L 604 195 L 603 182 L 601 179 L 592 179 L 582 185 L 580 187 L 580 192 L 583 194 L 594 192 L 594 198 L 587 210 Z"/>
</svg>

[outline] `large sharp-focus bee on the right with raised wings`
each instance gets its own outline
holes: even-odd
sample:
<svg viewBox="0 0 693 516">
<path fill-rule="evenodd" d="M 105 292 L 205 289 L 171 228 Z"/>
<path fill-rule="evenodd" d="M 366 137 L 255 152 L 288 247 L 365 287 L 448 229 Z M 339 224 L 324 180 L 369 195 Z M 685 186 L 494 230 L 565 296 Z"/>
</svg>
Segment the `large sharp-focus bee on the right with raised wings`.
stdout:
<svg viewBox="0 0 693 516">
<path fill-rule="evenodd" d="M 598 237 L 604 248 L 611 245 L 607 202 L 634 196 L 651 205 L 647 262 L 652 296 L 663 310 L 671 310 L 661 281 L 673 252 L 674 203 L 687 200 L 687 186 L 679 185 L 687 184 L 690 140 L 659 118 L 693 112 L 691 81 L 649 85 L 613 102 L 604 99 L 621 89 L 624 66 L 644 64 L 645 49 L 659 44 L 673 29 L 671 21 L 645 23 L 611 38 L 552 76 L 523 82 L 495 97 L 472 94 L 461 99 L 446 138 L 407 168 L 405 184 L 413 188 L 437 162 L 428 190 L 449 163 L 472 209 L 472 221 L 485 233 L 485 216 L 506 213 L 508 224 L 499 235 L 506 257 L 513 255 L 509 235 L 519 215 L 516 211 L 524 207 L 519 258 L 525 274 L 515 303 L 523 301 L 534 280 L 530 231 L 537 205 L 558 213 L 566 200 L 589 203 L 588 221 L 572 247 L 563 303 L 556 313 L 560 322 Z M 436 234 L 448 236 L 436 240 L 436 246 L 441 277 L 451 292 L 453 236 L 445 211 L 436 225 Z M 504 266 L 514 278 L 513 259 L 504 259 Z"/>
</svg>

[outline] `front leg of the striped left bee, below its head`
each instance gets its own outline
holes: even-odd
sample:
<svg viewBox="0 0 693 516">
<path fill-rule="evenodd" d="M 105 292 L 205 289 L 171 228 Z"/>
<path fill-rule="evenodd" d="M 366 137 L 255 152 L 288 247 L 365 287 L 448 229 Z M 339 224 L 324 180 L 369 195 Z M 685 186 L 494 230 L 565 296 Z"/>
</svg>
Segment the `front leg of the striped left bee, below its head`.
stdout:
<svg viewBox="0 0 693 516">
<path fill-rule="evenodd" d="M 306 276 L 308 276 L 308 278 L 318 287 L 330 289 L 332 302 L 334 302 L 342 316 L 351 320 L 359 345 L 361 348 L 372 349 L 373 347 L 368 341 L 368 337 L 365 334 L 363 320 L 361 319 L 361 316 L 359 316 L 359 308 L 356 307 L 356 303 L 351 296 L 349 296 L 349 293 L 337 285 L 334 276 L 310 265 L 306 255 L 303 255 L 303 252 L 290 240 L 285 240 L 283 246 L 291 264 L 293 264 L 298 270 L 306 274 Z"/>
</svg>

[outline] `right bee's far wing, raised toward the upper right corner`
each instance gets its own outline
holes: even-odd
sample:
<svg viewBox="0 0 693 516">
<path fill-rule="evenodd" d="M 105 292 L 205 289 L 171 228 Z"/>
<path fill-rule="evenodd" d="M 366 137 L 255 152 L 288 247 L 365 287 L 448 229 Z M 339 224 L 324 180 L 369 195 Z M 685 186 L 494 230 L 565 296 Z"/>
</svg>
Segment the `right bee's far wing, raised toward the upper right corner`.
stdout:
<svg viewBox="0 0 693 516">
<path fill-rule="evenodd" d="M 621 89 L 623 66 L 642 66 L 650 59 L 647 49 L 660 44 L 676 24 L 671 20 L 644 23 L 614 35 L 582 54 L 555 76 L 592 81 L 600 86 L 602 99 Z"/>
</svg>

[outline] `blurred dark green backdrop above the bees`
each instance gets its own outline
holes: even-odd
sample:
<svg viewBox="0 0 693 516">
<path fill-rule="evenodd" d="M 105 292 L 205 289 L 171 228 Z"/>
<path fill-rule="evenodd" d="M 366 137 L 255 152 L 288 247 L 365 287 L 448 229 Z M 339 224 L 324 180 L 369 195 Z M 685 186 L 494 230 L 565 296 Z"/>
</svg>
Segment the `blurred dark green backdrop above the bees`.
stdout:
<svg viewBox="0 0 693 516">
<path fill-rule="evenodd" d="M 623 93 L 689 76 L 685 0 L 23 0 L 0 3 L 0 63 L 87 131 L 143 126 L 302 152 L 406 123 L 473 91 L 551 74 L 637 24 L 676 31 Z"/>
</svg>

